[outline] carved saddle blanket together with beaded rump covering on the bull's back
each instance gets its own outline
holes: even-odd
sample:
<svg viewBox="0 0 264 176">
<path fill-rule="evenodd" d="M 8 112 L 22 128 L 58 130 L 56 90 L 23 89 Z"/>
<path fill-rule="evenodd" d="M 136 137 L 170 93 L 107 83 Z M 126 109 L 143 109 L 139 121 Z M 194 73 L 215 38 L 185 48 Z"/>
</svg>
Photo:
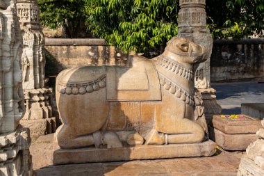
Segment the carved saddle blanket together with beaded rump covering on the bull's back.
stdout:
<svg viewBox="0 0 264 176">
<path fill-rule="evenodd" d="M 61 73 L 57 83 L 58 90 L 69 95 L 92 93 L 106 86 L 107 101 L 161 100 L 156 67 L 141 56 L 131 56 L 126 66 L 70 68 Z"/>
</svg>

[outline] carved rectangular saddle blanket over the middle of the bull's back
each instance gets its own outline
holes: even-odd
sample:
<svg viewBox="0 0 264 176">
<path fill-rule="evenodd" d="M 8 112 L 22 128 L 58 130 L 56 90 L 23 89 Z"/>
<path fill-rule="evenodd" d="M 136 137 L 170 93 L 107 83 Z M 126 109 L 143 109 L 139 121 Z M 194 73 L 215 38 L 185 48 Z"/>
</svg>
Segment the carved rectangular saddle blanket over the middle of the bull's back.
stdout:
<svg viewBox="0 0 264 176">
<path fill-rule="evenodd" d="M 154 63 L 142 56 L 130 56 L 126 67 L 106 66 L 108 101 L 161 100 Z"/>
</svg>

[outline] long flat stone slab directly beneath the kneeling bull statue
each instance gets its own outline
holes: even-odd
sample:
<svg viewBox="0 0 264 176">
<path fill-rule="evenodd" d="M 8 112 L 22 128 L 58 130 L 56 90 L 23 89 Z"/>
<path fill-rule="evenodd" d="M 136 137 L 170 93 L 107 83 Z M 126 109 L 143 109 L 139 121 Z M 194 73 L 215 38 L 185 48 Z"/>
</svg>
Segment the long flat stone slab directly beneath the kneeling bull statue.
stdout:
<svg viewBox="0 0 264 176">
<path fill-rule="evenodd" d="M 54 140 L 56 141 L 56 139 Z M 179 157 L 209 157 L 215 154 L 215 143 L 206 141 L 197 144 L 178 145 L 140 145 L 95 149 L 87 147 L 74 150 L 62 150 L 56 142 L 53 148 L 53 164 L 90 163 L 106 161 L 131 161 L 136 159 L 169 159 Z"/>
</svg>

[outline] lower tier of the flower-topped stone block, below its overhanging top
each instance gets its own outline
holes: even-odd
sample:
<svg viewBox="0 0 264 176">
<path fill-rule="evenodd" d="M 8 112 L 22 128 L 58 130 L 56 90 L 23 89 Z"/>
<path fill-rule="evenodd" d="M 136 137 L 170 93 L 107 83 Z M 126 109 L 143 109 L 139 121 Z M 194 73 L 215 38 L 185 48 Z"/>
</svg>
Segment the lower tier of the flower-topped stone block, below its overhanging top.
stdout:
<svg viewBox="0 0 264 176">
<path fill-rule="evenodd" d="M 225 134 L 209 126 L 210 139 L 224 150 L 246 150 L 250 143 L 256 141 L 256 134 Z"/>
</svg>

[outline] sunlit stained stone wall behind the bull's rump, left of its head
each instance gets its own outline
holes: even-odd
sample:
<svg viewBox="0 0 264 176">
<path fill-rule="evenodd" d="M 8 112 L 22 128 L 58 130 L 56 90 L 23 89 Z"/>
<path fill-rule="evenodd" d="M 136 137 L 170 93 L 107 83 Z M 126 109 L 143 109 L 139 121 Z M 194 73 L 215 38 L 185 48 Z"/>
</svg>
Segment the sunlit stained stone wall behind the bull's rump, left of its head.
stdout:
<svg viewBox="0 0 264 176">
<path fill-rule="evenodd" d="M 53 59 L 52 63 L 57 63 L 56 72 L 83 65 L 124 65 L 127 58 L 127 55 L 117 52 L 115 47 L 106 45 L 105 40 L 97 38 L 46 38 L 45 49 L 47 60 Z"/>
</svg>

